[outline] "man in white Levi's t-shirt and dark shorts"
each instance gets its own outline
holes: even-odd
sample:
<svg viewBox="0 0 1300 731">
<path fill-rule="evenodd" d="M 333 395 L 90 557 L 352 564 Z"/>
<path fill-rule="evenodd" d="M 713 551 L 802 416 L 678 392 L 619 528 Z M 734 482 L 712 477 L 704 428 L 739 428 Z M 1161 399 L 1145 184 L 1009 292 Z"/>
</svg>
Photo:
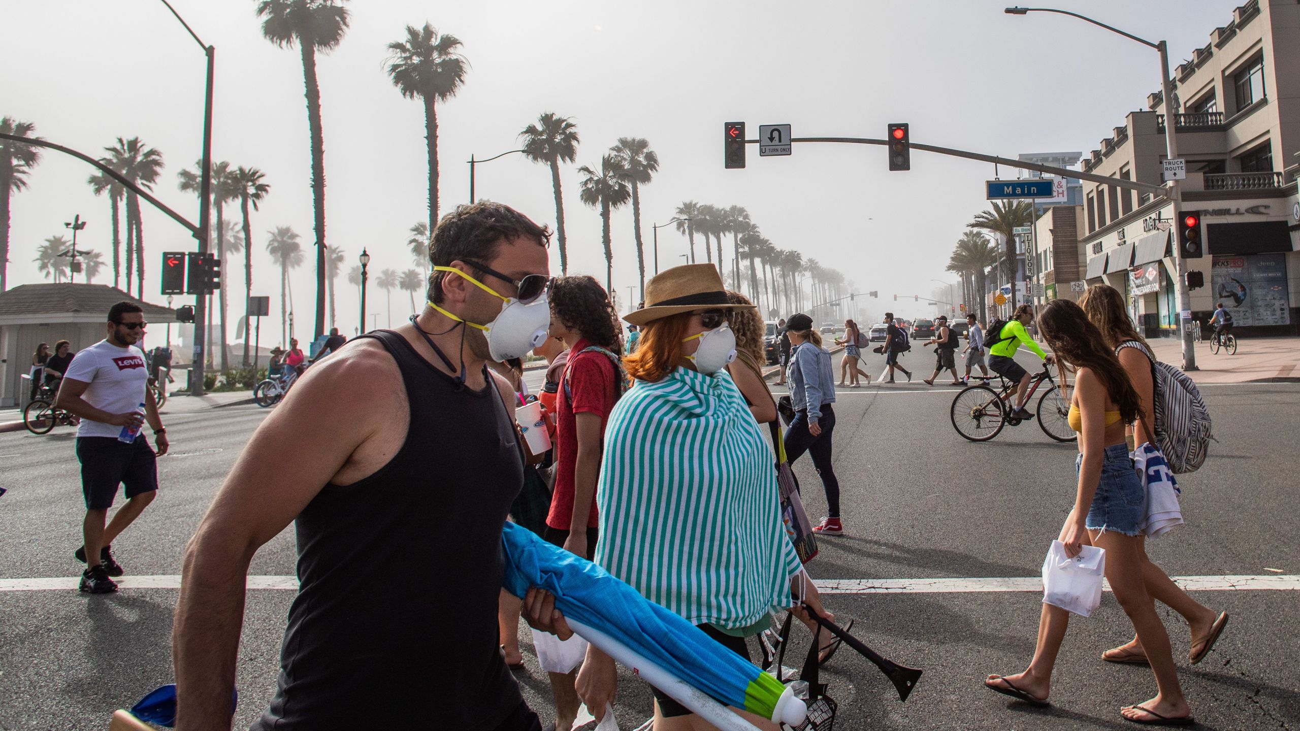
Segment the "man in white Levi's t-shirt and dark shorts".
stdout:
<svg viewBox="0 0 1300 731">
<path fill-rule="evenodd" d="M 159 489 L 156 459 L 166 454 L 169 446 L 153 392 L 147 386 L 150 371 L 144 352 L 135 347 L 144 337 L 146 325 L 138 304 L 114 304 L 108 311 L 108 337 L 73 358 L 58 389 L 58 407 L 82 419 L 77 429 L 77 459 L 86 496 L 84 544 L 73 555 L 86 563 L 81 591 L 92 594 L 117 591 L 110 576 L 121 576 L 122 567 L 113 559 L 109 546 L 153 501 Z M 139 411 L 142 403 L 144 414 Z M 139 431 L 144 421 L 153 429 L 157 454 L 139 432 L 133 441 L 118 438 L 124 427 Z M 126 505 L 105 527 L 118 485 L 125 488 Z"/>
</svg>

